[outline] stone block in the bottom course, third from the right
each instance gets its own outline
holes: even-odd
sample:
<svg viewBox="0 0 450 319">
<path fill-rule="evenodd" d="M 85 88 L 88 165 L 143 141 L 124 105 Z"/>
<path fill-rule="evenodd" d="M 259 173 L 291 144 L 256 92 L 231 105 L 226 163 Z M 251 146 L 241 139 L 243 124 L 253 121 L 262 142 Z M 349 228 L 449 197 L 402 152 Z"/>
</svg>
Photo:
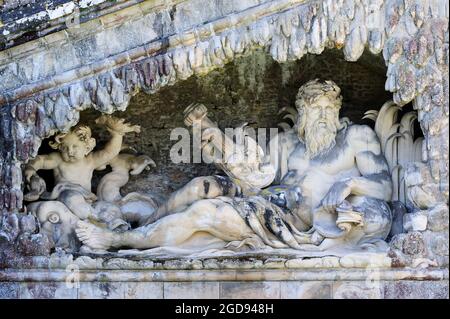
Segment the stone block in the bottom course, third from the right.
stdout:
<svg viewBox="0 0 450 319">
<path fill-rule="evenodd" d="M 331 299 L 332 283 L 285 281 L 280 283 L 281 299 Z"/>
</svg>

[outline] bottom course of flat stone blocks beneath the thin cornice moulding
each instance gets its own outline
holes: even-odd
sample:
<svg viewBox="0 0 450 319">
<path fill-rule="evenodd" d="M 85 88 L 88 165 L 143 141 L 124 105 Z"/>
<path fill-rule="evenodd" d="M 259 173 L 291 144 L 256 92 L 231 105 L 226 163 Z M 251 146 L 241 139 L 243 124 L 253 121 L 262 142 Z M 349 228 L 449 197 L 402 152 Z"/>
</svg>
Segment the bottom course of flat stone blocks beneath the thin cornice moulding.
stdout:
<svg viewBox="0 0 450 319">
<path fill-rule="evenodd" d="M 262 281 L 1 283 L 0 299 L 448 299 L 443 281 Z"/>
</svg>

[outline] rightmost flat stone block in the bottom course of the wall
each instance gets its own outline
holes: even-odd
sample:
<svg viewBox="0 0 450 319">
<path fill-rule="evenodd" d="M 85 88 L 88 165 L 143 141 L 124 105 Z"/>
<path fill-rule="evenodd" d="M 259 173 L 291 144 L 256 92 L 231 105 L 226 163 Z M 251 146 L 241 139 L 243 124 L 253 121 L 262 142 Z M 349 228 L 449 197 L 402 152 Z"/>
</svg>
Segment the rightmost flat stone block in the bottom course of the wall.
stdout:
<svg viewBox="0 0 450 319">
<path fill-rule="evenodd" d="M 448 280 L 390 281 L 384 284 L 385 299 L 448 299 Z"/>
</svg>

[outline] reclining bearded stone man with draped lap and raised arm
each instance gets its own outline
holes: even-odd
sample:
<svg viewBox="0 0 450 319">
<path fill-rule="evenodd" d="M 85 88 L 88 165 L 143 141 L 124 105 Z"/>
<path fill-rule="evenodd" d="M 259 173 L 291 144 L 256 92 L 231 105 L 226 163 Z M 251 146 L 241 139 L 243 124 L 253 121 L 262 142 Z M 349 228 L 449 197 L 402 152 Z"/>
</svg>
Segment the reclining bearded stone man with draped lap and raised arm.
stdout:
<svg viewBox="0 0 450 319">
<path fill-rule="evenodd" d="M 341 101 L 334 82 L 307 82 L 297 94 L 294 129 L 276 136 L 276 160 L 269 162 L 266 154 L 261 162 L 225 161 L 219 166 L 228 177 L 195 178 L 147 225 L 119 233 L 79 222 L 78 238 L 99 250 L 201 250 L 208 236 L 220 239 L 221 248 L 236 249 L 383 247 L 377 244 L 384 243 L 392 223 L 388 165 L 370 127 L 339 121 Z M 214 139 L 232 143 L 208 120 L 204 106 L 191 107 L 186 123 L 192 121 L 201 121 L 203 151 Z"/>
</svg>

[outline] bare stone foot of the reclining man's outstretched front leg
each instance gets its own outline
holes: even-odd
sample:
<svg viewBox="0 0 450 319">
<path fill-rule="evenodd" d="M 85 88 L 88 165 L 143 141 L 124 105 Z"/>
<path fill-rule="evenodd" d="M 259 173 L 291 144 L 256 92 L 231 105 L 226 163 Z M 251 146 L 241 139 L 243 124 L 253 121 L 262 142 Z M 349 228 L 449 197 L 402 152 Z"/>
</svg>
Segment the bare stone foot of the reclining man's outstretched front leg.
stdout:
<svg viewBox="0 0 450 319">
<path fill-rule="evenodd" d="M 85 221 L 78 221 L 75 229 L 78 239 L 94 250 L 107 250 L 113 246 L 114 233 Z"/>
</svg>

